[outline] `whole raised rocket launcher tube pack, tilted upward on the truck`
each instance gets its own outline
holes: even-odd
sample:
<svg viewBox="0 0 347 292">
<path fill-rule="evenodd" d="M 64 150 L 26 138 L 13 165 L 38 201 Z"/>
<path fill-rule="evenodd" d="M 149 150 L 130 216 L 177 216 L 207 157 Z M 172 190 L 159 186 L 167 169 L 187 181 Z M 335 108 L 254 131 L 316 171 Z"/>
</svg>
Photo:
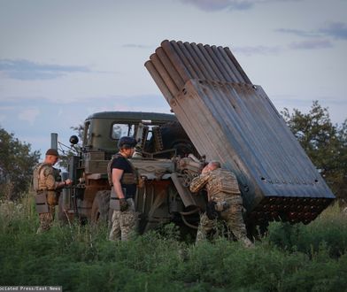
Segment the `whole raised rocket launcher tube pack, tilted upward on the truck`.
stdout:
<svg viewBox="0 0 347 292">
<path fill-rule="evenodd" d="M 228 48 L 164 41 L 145 63 L 191 142 L 238 179 L 246 223 L 305 224 L 335 196 Z"/>
</svg>

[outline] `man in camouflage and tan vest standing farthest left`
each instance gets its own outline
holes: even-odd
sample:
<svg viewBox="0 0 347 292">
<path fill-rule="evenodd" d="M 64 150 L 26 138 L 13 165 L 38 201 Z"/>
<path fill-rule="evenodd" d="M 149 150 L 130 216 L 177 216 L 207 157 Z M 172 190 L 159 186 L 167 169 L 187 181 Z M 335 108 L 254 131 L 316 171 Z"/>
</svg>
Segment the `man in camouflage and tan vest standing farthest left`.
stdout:
<svg viewBox="0 0 347 292">
<path fill-rule="evenodd" d="M 54 220 L 55 206 L 58 205 L 58 196 L 62 188 L 71 185 L 73 181 L 60 180 L 58 169 L 54 168 L 58 161 L 58 150 L 49 149 L 44 161 L 35 166 L 33 184 L 36 192 L 36 210 L 39 213 L 40 227 L 37 234 L 50 229 Z"/>
</svg>

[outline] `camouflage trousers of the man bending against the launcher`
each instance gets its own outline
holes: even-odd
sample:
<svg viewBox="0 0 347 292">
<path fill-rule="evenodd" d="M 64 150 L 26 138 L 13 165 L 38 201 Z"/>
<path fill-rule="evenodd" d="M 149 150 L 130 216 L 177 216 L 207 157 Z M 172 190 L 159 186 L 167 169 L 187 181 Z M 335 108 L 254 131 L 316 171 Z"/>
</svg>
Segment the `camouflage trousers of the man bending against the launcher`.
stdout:
<svg viewBox="0 0 347 292">
<path fill-rule="evenodd" d="M 253 246 L 253 243 L 247 237 L 242 210 L 242 204 L 231 204 L 227 210 L 220 212 L 220 219 L 225 221 L 228 231 L 234 234 L 236 240 L 242 242 L 248 248 Z M 197 242 L 205 240 L 207 234 L 217 227 L 218 219 L 209 219 L 206 213 L 202 213 L 200 215 L 200 224 L 197 228 Z"/>
</svg>

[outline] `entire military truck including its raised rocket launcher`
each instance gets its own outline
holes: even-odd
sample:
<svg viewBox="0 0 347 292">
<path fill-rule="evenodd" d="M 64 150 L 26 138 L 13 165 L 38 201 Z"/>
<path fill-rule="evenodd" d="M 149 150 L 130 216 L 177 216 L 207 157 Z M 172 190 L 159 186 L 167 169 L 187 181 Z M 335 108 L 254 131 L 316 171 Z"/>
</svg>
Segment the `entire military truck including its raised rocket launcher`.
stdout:
<svg viewBox="0 0 347 292">
<path fill-rule="evenodd" d="M 164 41 L 145 67 L 174 115 L 127 113 L 135 119 L 124 121 L 132 125 L 125 132 L 112 126 L 121 119 L 102 126 L 107 113 L 86 120 L 81 154 L 69 166 L 69 177 L 79 181 L 70 190 L 79 216 L 107 217 L 106 164 L 119 133 L 141 141 L 143 156 L 132 160 L 143 178 L 135 204 L 144 231 L 170 221 L 197 228 L 204 196 L 188 187 L 205 160 L 219 160 L 236 174 L 249 230 L 271 220 L 307 224 L 334 200 L 263 88 L 227 47 Z M 167 134 L 173 131 L 167 122 L 181 135 Z"/>
</svg>

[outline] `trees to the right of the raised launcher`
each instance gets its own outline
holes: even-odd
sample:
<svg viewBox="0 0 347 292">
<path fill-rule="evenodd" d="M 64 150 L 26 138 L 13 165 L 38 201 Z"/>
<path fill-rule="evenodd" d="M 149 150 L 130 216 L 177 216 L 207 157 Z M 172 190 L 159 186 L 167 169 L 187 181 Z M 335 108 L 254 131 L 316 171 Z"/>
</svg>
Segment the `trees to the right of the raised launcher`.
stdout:
<svg viewBox="0 0 347 292">
<path fill-rule="evenodd" d="M 291 132 L 311 158 L 336 198 L 347 203 L 347 119 L 333 125 L 328 108 L 313 101 L 311 110 L 281 111 Z"/>
</svg>

